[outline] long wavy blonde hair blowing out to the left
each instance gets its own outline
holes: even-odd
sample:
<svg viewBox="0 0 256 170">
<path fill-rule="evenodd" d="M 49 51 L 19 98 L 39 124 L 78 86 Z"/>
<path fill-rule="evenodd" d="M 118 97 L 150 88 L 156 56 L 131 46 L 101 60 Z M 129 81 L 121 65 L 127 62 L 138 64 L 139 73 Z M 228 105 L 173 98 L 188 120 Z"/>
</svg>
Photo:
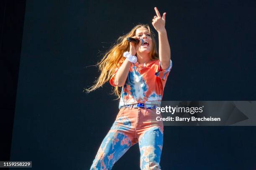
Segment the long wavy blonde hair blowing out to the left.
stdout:
<svg viewBox="0 0 256 170">
<path fill-rule="evenodd" d="M 136 25 L 126 35 L 123 35 L 123 36 L 119 37 L 118 40 L 117 40 L 117 43 L 115 45 L 113 45 L 113 47 L 111 47 L 110 50 L 108 50 L 105 53 L 102 60 L 97 63 L 96 66 L 99 66 L 99 70 L 101 72 L 100 76 L 98 77 L 97 80 L 95 80 L 94 85 L 92 85 L 88 89 L 84 88 L 85 92 L 91 92 L 93 90 L 96 90 L 97 88 L 102 87 L 102 85 L 104 85 L 105 82 L 108 82 L 110 80 L 111 76 L 113 75 L 113 73 L 115 71 L 115 68 L 118 67 L 118 63 L 120 63 L 120 62 L 122 63 L 125 60 L 125 57 L 123 57 L 123 53 L 125 51 L 129 51 L 129 49 L 130 49 L 130 44 L 126 40 L 126 38 L 135 36 L 136 35 L 136 30 L 138 28 L 141 28 L 141 27 L 148 29 L 148 31 L 151 34 L 152 48 L 151 48 L 151 52 L 150 52 L 150 59 L 151 60 L 158 60 L 159 59 L 157 49 L 156 49 L 156 40 L 154 38 L 154 33 L 151 32 L 151 30 L 149 28 L 149 25 L 147 25 L 147 24 Z M 121 93 L 118 89 L 118 86 L 114 87 L 113 93 L 115 93 L 115 95 L 118 96 L 117 99 L 120 98 Z M 111 94 L 113 94 L 113 93 L 111 93 Z"/>
</svg>

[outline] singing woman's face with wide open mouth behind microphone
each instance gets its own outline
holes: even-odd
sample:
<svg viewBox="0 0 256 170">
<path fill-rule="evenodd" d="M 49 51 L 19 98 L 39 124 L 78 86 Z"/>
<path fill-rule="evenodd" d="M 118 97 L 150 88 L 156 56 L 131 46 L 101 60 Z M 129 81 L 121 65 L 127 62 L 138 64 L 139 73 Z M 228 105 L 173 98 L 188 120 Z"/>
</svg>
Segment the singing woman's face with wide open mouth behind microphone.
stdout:
<svg viewBox="0 0 256 170">
<path fill-rule="evenodd" d="M 151 34 L 147 28 L 141 27 L 136 30 L 136 36 L 144 40 L 144 44 L 139 47 L 139 52 L 149 53 L 152 47 Z"/>
</svg>

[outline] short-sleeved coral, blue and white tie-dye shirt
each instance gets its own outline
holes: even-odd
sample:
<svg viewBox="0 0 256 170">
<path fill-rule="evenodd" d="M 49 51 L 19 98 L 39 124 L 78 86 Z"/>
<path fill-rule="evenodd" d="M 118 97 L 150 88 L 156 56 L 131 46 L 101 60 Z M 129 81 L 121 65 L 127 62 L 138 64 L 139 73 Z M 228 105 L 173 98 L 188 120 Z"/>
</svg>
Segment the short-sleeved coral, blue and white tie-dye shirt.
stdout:
<svg viewBox="0 0 256 170">
<path fill-rule="evenodd" d="M 110 78 L 110 85 L 112 86 L 117 86 L 114 83 L 115 74 L 123 61 L 120 60 L 118 62 L 118 67 Z M 171 68 L 172 60 L 170 60 L 170 66 L 165 70 L 161 68 L 160 60 L 151 60 L 142 64 L 138 62 L 131 63 L 128 77 L 122 87 L 119 109 L 125 105 L 137 103 L 160 107 L 164 87 Z"/>
</svg>

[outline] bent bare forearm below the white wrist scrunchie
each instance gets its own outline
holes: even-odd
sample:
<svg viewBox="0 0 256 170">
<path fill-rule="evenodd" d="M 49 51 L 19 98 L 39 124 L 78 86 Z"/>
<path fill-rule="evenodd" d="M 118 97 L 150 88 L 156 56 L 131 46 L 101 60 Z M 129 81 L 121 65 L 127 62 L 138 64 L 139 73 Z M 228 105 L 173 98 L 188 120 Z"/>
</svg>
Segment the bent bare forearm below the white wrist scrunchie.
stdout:
<svg viewBox="0 0 256 170">
<path fill-rule="evenodd" d="M 121 87 L 125 84 L 130 67 L 131 67 L 131 62 L 128 61 L 128 59 L 126 58 L 115 75 L 115 82 L 114 82 L 115 85 Z"/>
</svg>

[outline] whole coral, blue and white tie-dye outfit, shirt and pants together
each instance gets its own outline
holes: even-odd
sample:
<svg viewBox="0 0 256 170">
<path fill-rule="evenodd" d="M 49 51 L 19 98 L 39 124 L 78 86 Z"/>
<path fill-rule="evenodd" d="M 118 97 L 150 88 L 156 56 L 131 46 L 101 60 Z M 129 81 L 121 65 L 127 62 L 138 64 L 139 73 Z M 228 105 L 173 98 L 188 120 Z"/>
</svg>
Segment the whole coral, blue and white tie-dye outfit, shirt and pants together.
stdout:
<svg viewBox="0 0 256 170">
<path fill-rule="evenodd" d="M 110 84 L 123 60 L 118 62 Z M 139 143 L 141 170 L 161 170 L 160 157 L 163 146 L 164 126 L 157 121 L 156 107 L 161 106 L 167 76 L 172 68 L 162 70 L 159 60 L 131 63 L 122 88 L 119 112 L 103 139 L 90 170 L 111 170 L 114 163 L 133 145 Z M 139 104 L 143 103 L 143 104 Z M 138 107 L 143 105 L 144 107 Z"/>
</svg>

